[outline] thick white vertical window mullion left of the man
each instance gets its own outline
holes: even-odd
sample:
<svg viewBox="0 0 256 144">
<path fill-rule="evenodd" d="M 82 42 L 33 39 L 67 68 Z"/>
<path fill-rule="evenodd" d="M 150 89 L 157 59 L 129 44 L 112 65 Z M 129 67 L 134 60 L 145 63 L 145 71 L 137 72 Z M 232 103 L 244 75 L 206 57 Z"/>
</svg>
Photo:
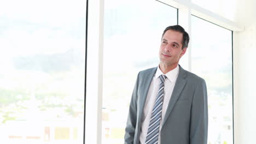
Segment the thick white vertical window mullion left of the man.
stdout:
<svg viewBox="0 0 256 144">
<path fill-rule="evenodd" d="M 85 143 L 101 144 L 104 1 L 88 4 Z"/>
</svg>

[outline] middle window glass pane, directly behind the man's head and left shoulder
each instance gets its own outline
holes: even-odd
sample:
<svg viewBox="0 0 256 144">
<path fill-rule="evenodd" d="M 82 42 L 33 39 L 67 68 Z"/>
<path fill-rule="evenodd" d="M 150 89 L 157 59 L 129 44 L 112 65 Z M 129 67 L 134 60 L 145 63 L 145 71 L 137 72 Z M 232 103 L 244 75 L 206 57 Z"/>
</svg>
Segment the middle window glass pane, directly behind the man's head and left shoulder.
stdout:
<svg viewBox="0 0 256 144">
<path fill-rule="evenodd" d="M 161 35 L 177 25 L 177 9 L 154 0 L 104 4 L 102 143 L 124 143 L 136 76 L 158 66 Z"/>
</svg>

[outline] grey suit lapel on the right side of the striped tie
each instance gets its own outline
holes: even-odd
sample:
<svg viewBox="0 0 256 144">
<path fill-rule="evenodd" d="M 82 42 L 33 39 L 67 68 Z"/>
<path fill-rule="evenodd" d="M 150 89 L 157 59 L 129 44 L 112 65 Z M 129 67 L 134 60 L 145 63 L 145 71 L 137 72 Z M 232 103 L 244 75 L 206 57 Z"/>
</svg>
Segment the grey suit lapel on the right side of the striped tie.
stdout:
<svg viewBox="0 0 256 144">
<path fill-rule="evenodd" d="M 184 80 L 184 77 L 187 74 L 185 73 L 185 70 L 179 65 L 179 74 L 176 80 L 176 83 L 174 85 L 173 91 L 172 91 L 172 96 L 171 99 L 169 101 L 166 113 L 165 113 L 165 117 L 164 117 L 164 121 L 162 122 L 162 126 L 165 124 L 168 116 L 170 115 L 170 113 L 172 112 L 172 109 L 176 103 L 176 101 L 179 98 L 179 95 L 182 92 L 182 89 L 184 88 L 185 84 L 187 83 L 186 80 Z"/>
</svg>

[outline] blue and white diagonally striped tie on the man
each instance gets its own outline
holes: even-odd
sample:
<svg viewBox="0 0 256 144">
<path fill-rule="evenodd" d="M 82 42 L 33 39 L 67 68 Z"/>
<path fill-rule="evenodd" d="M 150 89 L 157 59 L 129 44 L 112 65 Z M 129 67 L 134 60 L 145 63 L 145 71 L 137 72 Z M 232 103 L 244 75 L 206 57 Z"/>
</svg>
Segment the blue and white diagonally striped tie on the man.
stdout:
<svg viewBox="0 0 256 144">
<path fill-rule="evenodd" d="M 165 75 L 160 75 L 160 83 L 159 83 L 159 90 L 158 95 L 155 100 L 155 104 L 152 110 L 149 126 L 148 126 L 148 133 L 146 137 L 146 144 L 155 144 L 158 143 L 158 134 L 159 134 L 159 126 L 160 120 L 162 117 L 162 102 L 164 100 L 164 87 L 165 87 Z"/>
</svg>

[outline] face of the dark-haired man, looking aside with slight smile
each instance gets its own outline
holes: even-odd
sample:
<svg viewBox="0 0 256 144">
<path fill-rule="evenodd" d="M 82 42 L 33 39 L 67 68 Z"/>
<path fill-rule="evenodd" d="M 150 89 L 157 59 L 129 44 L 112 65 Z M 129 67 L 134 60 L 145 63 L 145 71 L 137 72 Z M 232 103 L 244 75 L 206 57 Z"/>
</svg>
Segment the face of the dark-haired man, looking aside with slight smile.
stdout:
<svg viewBox="0 0 256 144">
<path fill-rule="evenodd" d="M 167 64 L 168 66 L 178 65 L 179 58 L 181 58 L 187 47 L 182 49 L 183 35 L 181 32 L 169 29 L 165 32 L 161 40 L 159 58 L 160 63 Z"/>
</svg>

